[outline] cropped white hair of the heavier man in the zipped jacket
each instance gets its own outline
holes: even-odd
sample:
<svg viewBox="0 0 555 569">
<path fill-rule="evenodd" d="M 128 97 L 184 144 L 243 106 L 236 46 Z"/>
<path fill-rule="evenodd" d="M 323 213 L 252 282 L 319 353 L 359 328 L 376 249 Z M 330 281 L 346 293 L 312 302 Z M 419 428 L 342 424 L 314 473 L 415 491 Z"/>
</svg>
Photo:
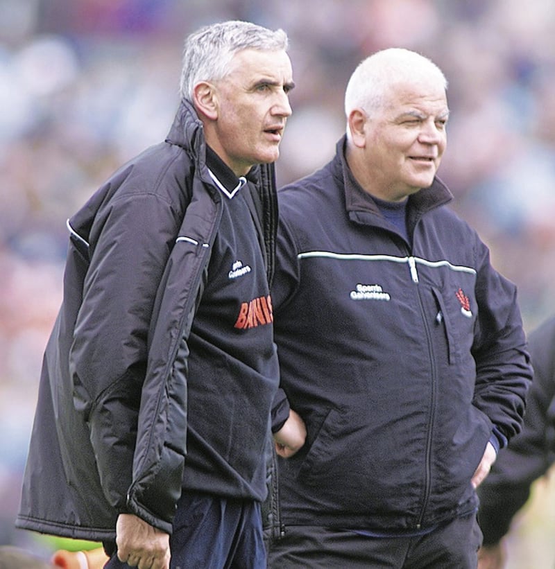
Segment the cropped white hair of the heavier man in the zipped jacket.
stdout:
<svg viewBox="0 0 555 569">
<path fill-rule="evenodd" d="M 437 81 L 447 89 L 443 71 L 424 55 L 404 48 L 377 51 L 362 60 L 345 89 L 345 115 L 347 119 L 355 109 L 368 114 L 380 110 L 386 103 L 386 92 L 395 83 L 425 79 Z"/>
</svg>

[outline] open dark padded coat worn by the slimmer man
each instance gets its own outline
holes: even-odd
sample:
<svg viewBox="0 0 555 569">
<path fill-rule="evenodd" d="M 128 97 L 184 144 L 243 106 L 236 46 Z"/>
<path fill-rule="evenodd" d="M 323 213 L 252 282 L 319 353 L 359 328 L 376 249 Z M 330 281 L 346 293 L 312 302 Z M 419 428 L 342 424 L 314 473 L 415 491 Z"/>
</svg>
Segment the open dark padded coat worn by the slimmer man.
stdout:
<svg viewBox="0 0 555 569">
<path fill-rule="evenodd" d="M 249 177 L 271 280 L 273 166 Z M 171 533 L 187 451 L 183 339 L 220 219 L 202 123 L 182 103 L 167 140 L 68 221 L 64 297 L 44 353 L 18 527 L 114 539 L 126 511 Z"/>
</svg>

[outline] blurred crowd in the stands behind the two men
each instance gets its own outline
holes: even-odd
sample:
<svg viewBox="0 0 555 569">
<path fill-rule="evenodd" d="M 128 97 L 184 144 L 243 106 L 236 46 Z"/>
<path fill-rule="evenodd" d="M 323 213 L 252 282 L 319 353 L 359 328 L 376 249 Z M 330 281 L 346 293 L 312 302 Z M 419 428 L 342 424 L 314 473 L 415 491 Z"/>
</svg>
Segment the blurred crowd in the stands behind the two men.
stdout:
<svg viewBox="0 0 555 569">
<path fill-rule="evenodd" d="M 289 34 L 297 87 L 280 184 L 332 157 L 346 82 L 366 55 L 404 46 L 439 64 L 452 112 L 440 176 L 453 207 L 518 284 L 527 329 L 555 312 L 552 0 L 0 0 L 0 543 L 43 547 L 13 518 L 65 220 L 165 137 L 182 40 L 224 19 Z M 542 502 L 531 523 L 545 527 Z"/>
</svg>

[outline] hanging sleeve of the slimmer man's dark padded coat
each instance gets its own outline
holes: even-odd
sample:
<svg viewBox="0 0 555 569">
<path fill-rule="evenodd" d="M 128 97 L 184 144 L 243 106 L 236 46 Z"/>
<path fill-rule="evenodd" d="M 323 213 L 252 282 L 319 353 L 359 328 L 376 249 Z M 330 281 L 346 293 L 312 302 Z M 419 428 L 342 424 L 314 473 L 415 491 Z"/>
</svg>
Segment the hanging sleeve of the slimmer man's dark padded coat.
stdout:
<svg viewBox="0 0 555 569">
<path fill-rule="evenodd" d="M 91 231 L 70 371 L 103 491 L 118 511 L 126 511 L 148 329 L 178 229 L 175 218 L 162 198 L 135 192 L 105 204 Z"/>
</svg>

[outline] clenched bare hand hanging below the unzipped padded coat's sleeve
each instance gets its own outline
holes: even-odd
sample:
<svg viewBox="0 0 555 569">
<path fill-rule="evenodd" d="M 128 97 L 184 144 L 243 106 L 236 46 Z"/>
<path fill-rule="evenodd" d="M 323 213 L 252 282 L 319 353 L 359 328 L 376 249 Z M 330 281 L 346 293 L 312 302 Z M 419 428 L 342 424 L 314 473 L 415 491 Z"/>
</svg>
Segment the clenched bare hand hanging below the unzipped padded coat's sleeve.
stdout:
<svg viewBox="0 0 555 569">
<path fill-rule="evenodd" d="M 139 569 L 169 569 L 169 535 L 133 514 L 119 514 L 117 557 Z"/>
</svg>

